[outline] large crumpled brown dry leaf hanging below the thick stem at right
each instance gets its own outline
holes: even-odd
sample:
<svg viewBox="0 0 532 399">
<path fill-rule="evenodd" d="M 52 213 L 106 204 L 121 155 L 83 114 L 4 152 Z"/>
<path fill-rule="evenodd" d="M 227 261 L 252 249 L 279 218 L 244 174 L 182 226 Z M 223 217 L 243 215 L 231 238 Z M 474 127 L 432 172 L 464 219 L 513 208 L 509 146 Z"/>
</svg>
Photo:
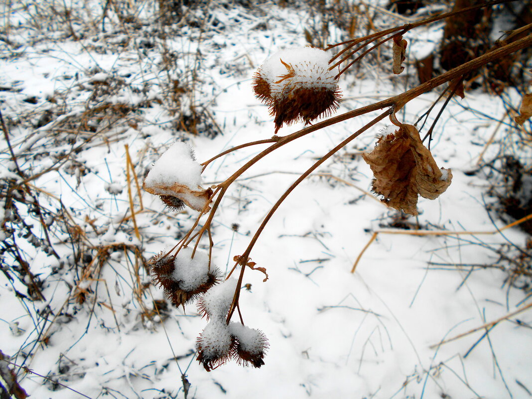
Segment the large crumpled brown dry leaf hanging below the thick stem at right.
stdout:
<svg viewBox="0 0 532 399">
<path fill-rule="evenodd" d="M 434 200 L 451 184 L 450 169 L 438 169 L 419 131 L 403 124 L 395 134 L 379 138 L 370 153 L 362 154 L 375 176 L 373 190 L 398 211 L 417 215 L 418 194 Z"/>
</svg>

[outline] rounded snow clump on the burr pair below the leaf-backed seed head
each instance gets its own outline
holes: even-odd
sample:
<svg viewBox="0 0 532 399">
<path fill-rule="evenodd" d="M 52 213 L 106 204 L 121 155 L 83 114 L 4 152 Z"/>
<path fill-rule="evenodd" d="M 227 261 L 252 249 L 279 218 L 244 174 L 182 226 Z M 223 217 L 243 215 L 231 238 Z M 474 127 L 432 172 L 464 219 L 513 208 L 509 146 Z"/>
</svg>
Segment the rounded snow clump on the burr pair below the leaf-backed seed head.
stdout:
<svg viewBox="0 0 532 399">
<path fill-rule="evenodd" d="M 191 258 L 193 250 L 191 247 L 181 248 L 174 259 L 175 269 L 171 278 L 178 281 L 184 291 L 192 291 L 209 279 L 209 254 L 196 250 L 194 258 Z"/>
</svg>

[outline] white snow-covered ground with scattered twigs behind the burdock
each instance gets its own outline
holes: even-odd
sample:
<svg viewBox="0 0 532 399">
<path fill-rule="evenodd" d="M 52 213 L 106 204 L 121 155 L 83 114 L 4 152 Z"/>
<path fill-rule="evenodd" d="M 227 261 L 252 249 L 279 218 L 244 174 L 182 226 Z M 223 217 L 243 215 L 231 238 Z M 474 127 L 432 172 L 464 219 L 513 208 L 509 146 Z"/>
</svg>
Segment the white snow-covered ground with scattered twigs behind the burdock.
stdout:
<svg viewBox="0 0 532 399">
<path fill-rule="evenodd" d="M 307 7 L 213 2 L 208 13 L 203 5 L 190 7 L 182 23 L 164 26 L 151 2 L 129 2 L 132 9 L 122 12 L 134 15 L 131 20 L 118 18 L 120 2 L 109 2 L 118 5 L 102 21 L 100 2 L 71 1 L 71 19 L 57 11 L 48 21 L 42 14 L 51 12 L 47 2 L 34 3 L 2 5 L 0 110 L 26 180 L 14 175 L 4 137 L 0 350 L 83 396 L 11 365 L 28 394 L 162 399 L 186 397 L 185 387 L 188 398 L 198 399 L 532 395 L 532 311 L 491 323 L 530 304 L 530 288 L 510 284 L 505 261 L 525 251 L 528 236 L 517 228 L 497 232 L 508 221 L 486 210 L 496 202 L 487 194 L 494 183 L 482 170 L 472 173 L 508 148 L 531 163 L 530 142 L 523 144 L 523 131 L 505 117 L 508 103 L 520 102 L 513 89 L 501 98 L 473 90 L 447 106 L 431 152 L 439 167 L 452 169 L 452 184 L 437 200 L 420 198 L 417 218 L 402 219 L 369 193 L 372 173 L 361 153 L 371 151 L 389 120 L 305 179 L 251 253 L 269 280 L 259 271 L 244 275 L 240 310 L 245 324 L 269 340 L 265 364 L 254 369 L 229 362 L 206 372 L 196 361 L 205 318 L 194 304 L 177 309 L 162 301 L 145 267 L 177 244 L 197 212 L 172 213 L 137 188 L 177 140 L 203 162 L 270 138 L 273 120 L 254 97 L 251 78 L 269 55 L 304 46 L 305 29 L 319 26 L 318 17 Z M 39 18 L 55 30 L 39 29 Z M 378 28 L 404 23 L 379 12 L 373 20 Z M 437 23 L 411 32 L 412 52 L 422 57 L 434 49 L 442 29 Z M 328 43 L 343 34 L 331 23 Z M 417 85 L 408 56 L 403 74 L 411 78 L 392 76 L 390 54 L 388 48 L 340 78 L 337 114 Z M 440 90 L 414 99 L 397 117 L 413 124 Z M 198 123 L 190 122 L 191 107 Z M 297 139 L 238 178 L 214 217 L 214 265 L 227 273 L 297 177 L 376 116 Z M 302 127 L 282 127 L 279 135 Z M 525 129 L 530 132 L 530 124 Z M 203 186 L 219 184 L 268 145 L 213 161 Z M 51 246 L 28 192 L 38 201 Z M 4 212 L 7 201 L 20 218 Z M 447 232 L 413 235 L 415 226 Z M 208 243 L 204 237 L 200 246 Z M 14 247 L 44 300 L 30 299 L 37 294 L 28 292 L 32 281 Z"/>
</svg>

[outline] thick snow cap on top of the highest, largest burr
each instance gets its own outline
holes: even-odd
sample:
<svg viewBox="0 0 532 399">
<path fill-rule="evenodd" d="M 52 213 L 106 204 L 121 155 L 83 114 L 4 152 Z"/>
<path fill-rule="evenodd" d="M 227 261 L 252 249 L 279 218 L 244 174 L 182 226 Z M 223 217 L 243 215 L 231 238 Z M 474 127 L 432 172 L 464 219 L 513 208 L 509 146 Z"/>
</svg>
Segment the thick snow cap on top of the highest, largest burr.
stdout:
<svg viewBox="0 0 532 399">
<path fill-rule="evenodd" d="M 335 73 L 329 71 L 329 59 L 330 54 L 320 48 L 288 48 L 268 57 L 262 64 L 260 73 L 268 82 L 273 98 L 286 97 L 293 87 L 324 88 L 334 92 L 337 88 L 336 79 Z M 293 68 L 293 76 L 287 77 L 289 70 L 286 65 Z M 284 77 L 287 78 L 283 79 Z"/>
</svg>

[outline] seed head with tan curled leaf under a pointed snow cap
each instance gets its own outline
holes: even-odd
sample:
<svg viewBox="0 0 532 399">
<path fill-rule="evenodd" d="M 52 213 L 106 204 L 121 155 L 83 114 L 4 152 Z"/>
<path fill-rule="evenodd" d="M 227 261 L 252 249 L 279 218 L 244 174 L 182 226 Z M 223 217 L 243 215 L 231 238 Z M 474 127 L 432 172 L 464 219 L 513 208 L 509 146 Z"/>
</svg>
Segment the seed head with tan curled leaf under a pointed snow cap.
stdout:
<svg viewBox="0 0 532 399">
<path fill-rule="evenodd" d="M 184 142 L 173 143 L 155 162 L 142 187 L 159 195 L 173 210 L 185 204 L 202 211 L 208 204 L 212 190 L 201 187 L 202 166 L 194 159 L 192 148 Z"/>
</svg>

